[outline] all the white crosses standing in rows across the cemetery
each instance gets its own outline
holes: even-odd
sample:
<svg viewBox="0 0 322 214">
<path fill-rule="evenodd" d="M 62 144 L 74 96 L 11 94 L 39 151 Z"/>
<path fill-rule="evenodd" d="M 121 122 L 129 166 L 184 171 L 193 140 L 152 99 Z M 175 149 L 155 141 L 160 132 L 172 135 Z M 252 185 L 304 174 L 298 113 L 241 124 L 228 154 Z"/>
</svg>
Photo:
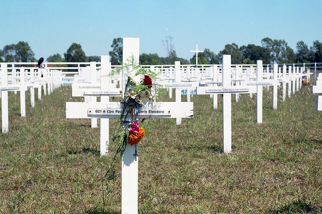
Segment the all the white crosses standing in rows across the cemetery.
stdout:
<svg viewBox="0 0 322 214">
<path fill-rule="evenodd" d="M 198 46 L 196 47 L 198 53 Z M 45 65 L 44 77 L 40 77 L 37 67 L 15 67 L 13 63 L 1 63 L 1 100 L 2 100 L 2 132 L 9 132 L 8 91 L 20 91 L 21 116 L 25 114 L 25 91 L 31 91 L 31 105 L 35 104 L 34 89 L 38 88 L 38 99 L 50 94 L 61 85 L 72 87 L 72 96 L 84 97 L 84 102 L 66 102 L 67 119 L 91 119 L 92 128 L 97 128 L 100 119 L 100 152 L 109 152 L 122 156 L 122 212 L 137 213 L 138 207 L 138 160 L 139 142 L 144 136 L 144 128 L 140 119 L 161 118 L 176 119 L 180 126 L 182 118 L 193 118 L 193 102 L 190 97 L 208 94 L 213 99 L 213 109 L 217 109 L 218 94 L 222 94 L 222 123 L 224 153 L 231 152 L 231 96 L 236 102 L 240 93 L 250 96 L 257 94 L 257 122 L 263 122 L 263 87 L 273 86 L 273 109 L 277 109 L 278 87 L 282 87 L 282 99 L 299 90 L 302 83 L 310 78 L 310 70 L 303 66 L 277 65 L 264 67 L 261 60 L 256 65 L 231 65 L 230 55 L 223 56 L 221 65 L 202 67 L 182 66 L 175 62 L 174 66 L 138 65 L 139 39 L 123 38 L 123 66 L 113 68 L 109 56 L 101 56 L 101 62 L 89 65 L 78 64 L 75 67 L 49 67 Z M 99 66 L 98 66 L 99 65 Z M 66 74 L 74 76 L 66 76 Z M 313 93 L 322 92 L 320 76 Z M 158 102 L 157 93 L 166 88 L 169 97 L 175 89 L 175 102 Z M 182 94 L 187 102 L 181 101 Z M 119 97 L 119 101 L 110 102 L 111 97 Z M 101 97 L 97 102 L 97 97 Z M 316 96 L 315 110 L 321 110 L 322 98 Z M 109 119 L 119 119 L 115 128 L 117 151 L 109 151 Z M 115 159 L 115 158 L 114 158 Z M 113 159 L 113 160 L 114 160 Z M 111 164 L 107 171 L 113 167 Z M 113 170 L 111 170 L 113 171 Z"/>
</svg>

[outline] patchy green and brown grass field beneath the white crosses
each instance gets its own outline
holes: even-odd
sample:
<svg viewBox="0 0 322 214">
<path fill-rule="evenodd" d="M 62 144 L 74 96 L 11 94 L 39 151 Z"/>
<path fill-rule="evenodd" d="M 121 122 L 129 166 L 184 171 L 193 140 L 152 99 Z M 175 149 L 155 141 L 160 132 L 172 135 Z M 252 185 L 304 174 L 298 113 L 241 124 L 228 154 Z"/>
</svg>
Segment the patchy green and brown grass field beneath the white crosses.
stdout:
<svg viewBox="0 0 322 214">
<path fill-rule="evenodd" d="M 277 110 L 272 88 L 265 89 L 263 124 L 256 123 L 256 94 L 241 94 L 232 102 L 228 155 L 221 152 L 218 97 L 213 110 L 209 96 L 193 96 L 194 118 L 180 126 L 175 119 L 143 122 L 139 213 L 321 213 L 322 113 L 313 110 L 310 86 L 284 102 L 279 96 Z M 28 106 L 26 118 L 19 92 L 9 98 L 10 131 L 0 134 L 0 213 L 119 213 L 120 159 L 117 181 L 102 180 L 115 143 L 100 157 L 100 130 L 88 119 L 65 119 L 65 102 L 82 98 L 60 87 Z"/>
</svg>

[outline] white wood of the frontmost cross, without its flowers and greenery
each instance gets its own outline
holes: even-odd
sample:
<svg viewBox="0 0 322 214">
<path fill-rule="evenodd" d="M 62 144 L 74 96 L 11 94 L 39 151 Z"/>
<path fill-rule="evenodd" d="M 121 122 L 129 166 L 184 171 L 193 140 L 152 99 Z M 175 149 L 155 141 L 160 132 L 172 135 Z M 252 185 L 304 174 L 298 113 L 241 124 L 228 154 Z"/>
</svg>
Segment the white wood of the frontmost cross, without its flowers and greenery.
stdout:
<svg viewBox="0 0 322 214">
<path fill-rule="evenodd" d="M 133 56 L 139 61 L 139 39 L 123 38 L 123 62 Z M 128 75 L 123 73 L 123 84 Z M 66 102 L 66 118 L 120 118 L 123 105 L 121 102 Z M 193 102 L 144 102 L 139 118 L 192 118 Z M 126 127 L 133 118 L 128 117 Z M 138 213 L 138 146 L 127 144 L 122 157 L 122 213 Z"/>
</svg>

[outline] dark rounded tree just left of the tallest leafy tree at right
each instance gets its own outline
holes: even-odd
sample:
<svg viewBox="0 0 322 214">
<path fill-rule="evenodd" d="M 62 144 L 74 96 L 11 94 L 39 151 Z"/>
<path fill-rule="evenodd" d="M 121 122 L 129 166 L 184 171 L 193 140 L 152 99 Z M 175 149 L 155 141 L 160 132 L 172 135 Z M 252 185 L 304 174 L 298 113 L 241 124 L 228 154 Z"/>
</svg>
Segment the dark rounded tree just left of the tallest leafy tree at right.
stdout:
<svg viewBox="0 0 322 214">
<path fill-rule="evenodd" d="M 239 48 L 241 53 L 241 58 L 243 59 L 243 64 L 256 64 L 257 60 L 263 60 L 264 64 L 269 64 L 271 62 L 271 55 L 268 49 L 249 44 L 247 46 L 243 45 Z"/>
</svg>

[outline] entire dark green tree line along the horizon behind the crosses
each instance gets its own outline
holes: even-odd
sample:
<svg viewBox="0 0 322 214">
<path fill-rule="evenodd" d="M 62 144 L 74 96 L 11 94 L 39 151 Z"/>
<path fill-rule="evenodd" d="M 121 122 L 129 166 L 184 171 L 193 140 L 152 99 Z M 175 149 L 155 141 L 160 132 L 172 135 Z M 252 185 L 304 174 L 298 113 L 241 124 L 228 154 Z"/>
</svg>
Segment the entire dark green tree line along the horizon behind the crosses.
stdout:
<svg viewBox="0 0 322 214">
<path fill-rule="evenodd" d="M 140 64 L 142 65 L 166 65 L 181 61 L 181 64 L 195 64 L 196 54 L 190 59 L 177 56 L 172 37 L 162 40 L 167 52 L 167 57 L 160 57 L 157 53 L 140 54 Z M 198 64 L 221 64 L 223 55 L 231 55 L 232 64 L 256 64 L 257 60 L 263 60 L 264 64 L 273 63 L 312 63 L 322 62 L 322 43 L 318 40 L 308 47 L 303 41 L 296 44 L 296 51 L 287 45 L 285 40 L 262 39 L 262 46 L 248 44 L 238 47 L 235 43 L 225 45 L 218 54 L 208 48 L 204 52 L 198 53 Z M 123 40 L 114 38 L 109 52 L 112 65 L 122 64 Z M 47 58 L 47 62 L 91 62 L 100 61 L 100 56 L 86 56 L 80 44 L 72 43 L 62 57 L 56 53 Z M 27 42 L 6 45 L 0 49 L 0 62 L 36 62 L 35 54 Z"/>
</svg>

